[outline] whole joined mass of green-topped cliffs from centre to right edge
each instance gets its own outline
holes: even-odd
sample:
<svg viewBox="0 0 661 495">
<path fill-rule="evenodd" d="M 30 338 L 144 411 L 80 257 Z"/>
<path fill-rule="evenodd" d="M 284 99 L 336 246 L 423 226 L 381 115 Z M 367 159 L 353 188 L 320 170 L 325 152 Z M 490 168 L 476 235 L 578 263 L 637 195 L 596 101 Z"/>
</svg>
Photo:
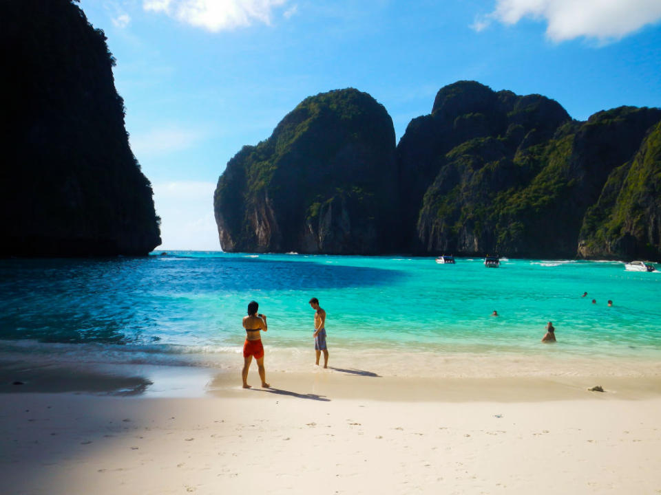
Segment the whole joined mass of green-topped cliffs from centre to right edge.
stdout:
<svg viewBox="0 0 661 495">
<path fill-rule="evenodd" d="M 304 100 L 228 164 L 224 250 L 659 259 L 661 109 L 572 120 L 554 100 L 459 81 L 393 158 L 355 90 Z M 647 137 L 646 137 L 647 136 Z"/>
</svg>

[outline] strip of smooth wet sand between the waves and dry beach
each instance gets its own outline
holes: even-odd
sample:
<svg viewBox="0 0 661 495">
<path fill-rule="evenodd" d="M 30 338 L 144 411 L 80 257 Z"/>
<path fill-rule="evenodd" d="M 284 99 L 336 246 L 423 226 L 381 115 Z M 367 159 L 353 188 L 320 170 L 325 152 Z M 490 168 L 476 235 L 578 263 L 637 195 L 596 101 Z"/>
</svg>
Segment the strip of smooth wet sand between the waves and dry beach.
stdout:
<svg viewBox="0 0 661 495">
<path fill-rule="evenodd" d="M 612 370 L 583 375 L 400 376 L 358 369 L 346 362 L 328 369 L 286 371 L 266 363 L 270 389 L 261 388 L 255 363 L 240 384 L 240 366 L 135 364 L 48 364 L 0 361 L 0 396 L 26 393 L 76 393 L 143 398 L 242 398 L 255 391 L 308 398 L 367 399 L 382 402 L 544 402 L 558 400 L 644 400 L 661 398 L 661 375 L 622 376 Z M 607 373 L 608 371 L 608 373 Z M 601 386 L 605 392 L 589 391 Z M 247 395 L 249 397 L 249 395 Z"/>
</svg>

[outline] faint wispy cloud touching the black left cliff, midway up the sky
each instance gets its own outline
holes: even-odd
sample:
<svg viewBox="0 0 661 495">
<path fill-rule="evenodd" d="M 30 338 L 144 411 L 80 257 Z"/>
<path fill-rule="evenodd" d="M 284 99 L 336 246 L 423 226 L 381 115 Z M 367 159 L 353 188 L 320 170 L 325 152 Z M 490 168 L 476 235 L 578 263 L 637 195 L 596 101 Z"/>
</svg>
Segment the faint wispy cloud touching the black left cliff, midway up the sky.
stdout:
<svg viewBox="0 0 661 495">
<path fill-rule="evenodd" d="M 166 126 L 145 133 L 132 134 L 130 142 L 131 149 L 139 160 L 144 155 L 156 156 L 188 149 L 204 140 L 207 135 L 207 131 L 200 129 Z"/>
</svg>

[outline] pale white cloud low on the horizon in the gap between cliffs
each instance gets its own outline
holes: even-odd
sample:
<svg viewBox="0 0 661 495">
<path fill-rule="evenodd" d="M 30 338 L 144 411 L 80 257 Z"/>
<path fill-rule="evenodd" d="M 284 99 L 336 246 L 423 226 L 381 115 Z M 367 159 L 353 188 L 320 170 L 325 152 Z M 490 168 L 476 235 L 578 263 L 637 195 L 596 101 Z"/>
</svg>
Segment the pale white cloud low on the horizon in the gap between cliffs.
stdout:
<svg viewBox="0 0 661 495">
<path fill-rule="evenodd" d="M 163 182 L 152 188 L 161 219 L 159 250 L 220 251 L 213 217 L 215 182 Z"/>
</svg>

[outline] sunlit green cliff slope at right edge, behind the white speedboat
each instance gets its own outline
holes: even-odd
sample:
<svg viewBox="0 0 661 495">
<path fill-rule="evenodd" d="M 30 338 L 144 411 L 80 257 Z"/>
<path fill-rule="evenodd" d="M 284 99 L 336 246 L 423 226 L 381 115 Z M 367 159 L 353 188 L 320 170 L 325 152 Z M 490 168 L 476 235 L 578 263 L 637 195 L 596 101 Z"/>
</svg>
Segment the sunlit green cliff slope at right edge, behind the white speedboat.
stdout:
<svg viewBox="0 0 661 495">
<path fill-rule="evenodd" d="M 661 123 L 611 172 L 579 239 L 583 257 L 661 259 Z"/>
</svg>

